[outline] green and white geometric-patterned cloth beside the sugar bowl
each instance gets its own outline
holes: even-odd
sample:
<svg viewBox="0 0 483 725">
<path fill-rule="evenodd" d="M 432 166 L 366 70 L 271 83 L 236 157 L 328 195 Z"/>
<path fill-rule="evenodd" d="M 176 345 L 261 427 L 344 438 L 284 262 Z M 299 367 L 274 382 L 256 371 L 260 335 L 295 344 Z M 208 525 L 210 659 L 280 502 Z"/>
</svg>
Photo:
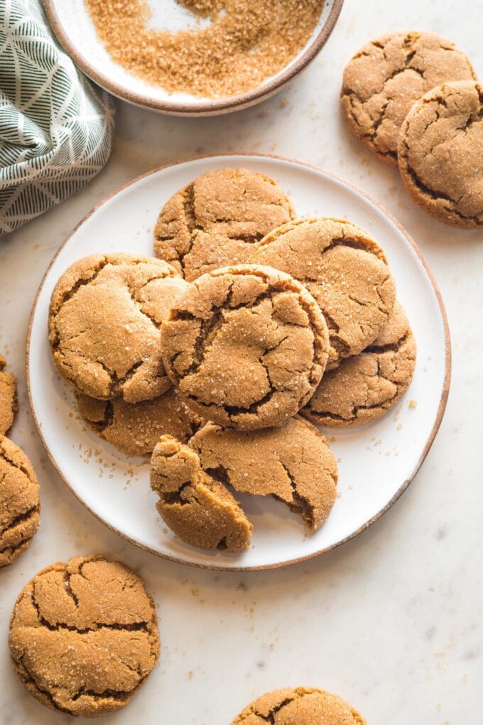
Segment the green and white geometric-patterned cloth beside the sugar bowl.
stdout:
<svg viewBox="0 0 483 725">
<path fill-rule="evenodd" d="M 106 163 L 109 96 L 62 51 L 40 0 L 0 0 L 0 236 L 67 199 Z"/>
</svg>

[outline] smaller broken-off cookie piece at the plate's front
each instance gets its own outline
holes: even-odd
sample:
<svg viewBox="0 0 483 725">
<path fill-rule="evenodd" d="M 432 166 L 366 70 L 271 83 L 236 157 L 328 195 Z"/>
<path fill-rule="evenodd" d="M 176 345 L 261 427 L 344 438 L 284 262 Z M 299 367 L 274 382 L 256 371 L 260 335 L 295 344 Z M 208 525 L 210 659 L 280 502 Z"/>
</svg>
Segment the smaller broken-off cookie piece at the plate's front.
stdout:
<svg viewBox="0 0 483 725">
<path fill-rule="evenodd" d="M 207 476 L 196 452 L 172 436 L 161 436 L 151 458 L 151 488 L 169 529 L 202 549 L 243 551 L 251 523 L 227 488 Z"/>
</svg>

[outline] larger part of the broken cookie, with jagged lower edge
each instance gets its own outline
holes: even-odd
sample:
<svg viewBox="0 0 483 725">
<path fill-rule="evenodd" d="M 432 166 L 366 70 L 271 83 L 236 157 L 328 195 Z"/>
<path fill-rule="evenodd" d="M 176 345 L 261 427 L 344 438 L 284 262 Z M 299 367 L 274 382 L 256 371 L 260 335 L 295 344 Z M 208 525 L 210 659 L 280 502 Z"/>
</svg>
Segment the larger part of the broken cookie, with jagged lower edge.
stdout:
<svg viewBox="0 0 483 725">
<path fill-rule="evenodd" d="M 190 439 L 203 470 L 235 491 L 273 495 L 319 529 L 335 502 L 337 463 L 327 441 L 299 415 L 274 428 L 236 431 L 206 423 Z"/>
</svg>

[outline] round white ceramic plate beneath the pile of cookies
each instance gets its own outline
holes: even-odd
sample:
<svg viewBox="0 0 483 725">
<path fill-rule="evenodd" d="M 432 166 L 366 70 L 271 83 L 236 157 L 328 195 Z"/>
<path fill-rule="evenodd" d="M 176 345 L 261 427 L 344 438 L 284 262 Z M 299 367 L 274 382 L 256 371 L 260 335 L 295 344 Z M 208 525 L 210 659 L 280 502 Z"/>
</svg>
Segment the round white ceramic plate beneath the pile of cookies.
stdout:
<svg viewBox="0 0 483 725">
<path fill-rule="evenodd" d="M 337 216 L 361 225 L 387 253 L 418 344 L 416 373 L 395 410 L 369 425 L 335 435 L 340 496 L 322 529 L 307 534 L 300 518 L 271 498 L 242 496 L 253 522 L 251 548 L 241 555 L 204 552 L 184 544 L 159 521 L 149 466 L 127 460 L 86 431 L 72 415 L 72 389 L 56 374 L 47 339 L 49 299 L 64 270 L 94 252 L 153 254 L 161 206 L 199 174 L 243 166 L 277 179 L 300 216 Z M 354 537 L 390 508 L 427 455 L 448 397 L 450 344 L 440 294 L 420 252 L 375 202 L 315 167 L 288 159 L 240 155 L 207 157 L 161 168 L 110 196 L 64 241 L 43 278 L 27 345 L 30 404 L 46 450 L 65 483 L 101 521 L 158 555 L 210 568 L 269 568 L 322 554 Z M 409 407 L 414 399 L 416 407 Z"/>
</svg>

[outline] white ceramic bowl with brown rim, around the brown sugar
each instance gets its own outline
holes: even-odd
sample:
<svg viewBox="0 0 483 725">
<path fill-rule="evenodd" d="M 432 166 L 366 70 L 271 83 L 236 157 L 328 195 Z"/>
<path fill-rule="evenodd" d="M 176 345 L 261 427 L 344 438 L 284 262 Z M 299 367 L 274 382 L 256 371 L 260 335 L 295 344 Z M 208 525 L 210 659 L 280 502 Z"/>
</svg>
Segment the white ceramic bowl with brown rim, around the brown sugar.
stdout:
<svg viewBox="0 0 483 725">
<path fill-rule="evenodd" d="M 175 0 L 149 0 L 151 25 L 173 32 L 199 27 L 192 13 Z M 197 98 L 188 94 L 169 94 L 163 88 L 150 86 L 127 72 L 109 56 L 98 39 L 96 29 L 85 8 L 84 0 L 44 0 L 44 6 L 57 38 L 75 64 L 86 75 L 114 96 L 140 106 L 178 115 L 212 115 L 251 106 L 280 90 L 303 70 L 316 56 L 337 22 L 343 0 L 327 0 L 320 20 L 306 46 L 280 70 L 264 80 L 261 86 L 239 96 L 220 99 Z"/>
</svg>

